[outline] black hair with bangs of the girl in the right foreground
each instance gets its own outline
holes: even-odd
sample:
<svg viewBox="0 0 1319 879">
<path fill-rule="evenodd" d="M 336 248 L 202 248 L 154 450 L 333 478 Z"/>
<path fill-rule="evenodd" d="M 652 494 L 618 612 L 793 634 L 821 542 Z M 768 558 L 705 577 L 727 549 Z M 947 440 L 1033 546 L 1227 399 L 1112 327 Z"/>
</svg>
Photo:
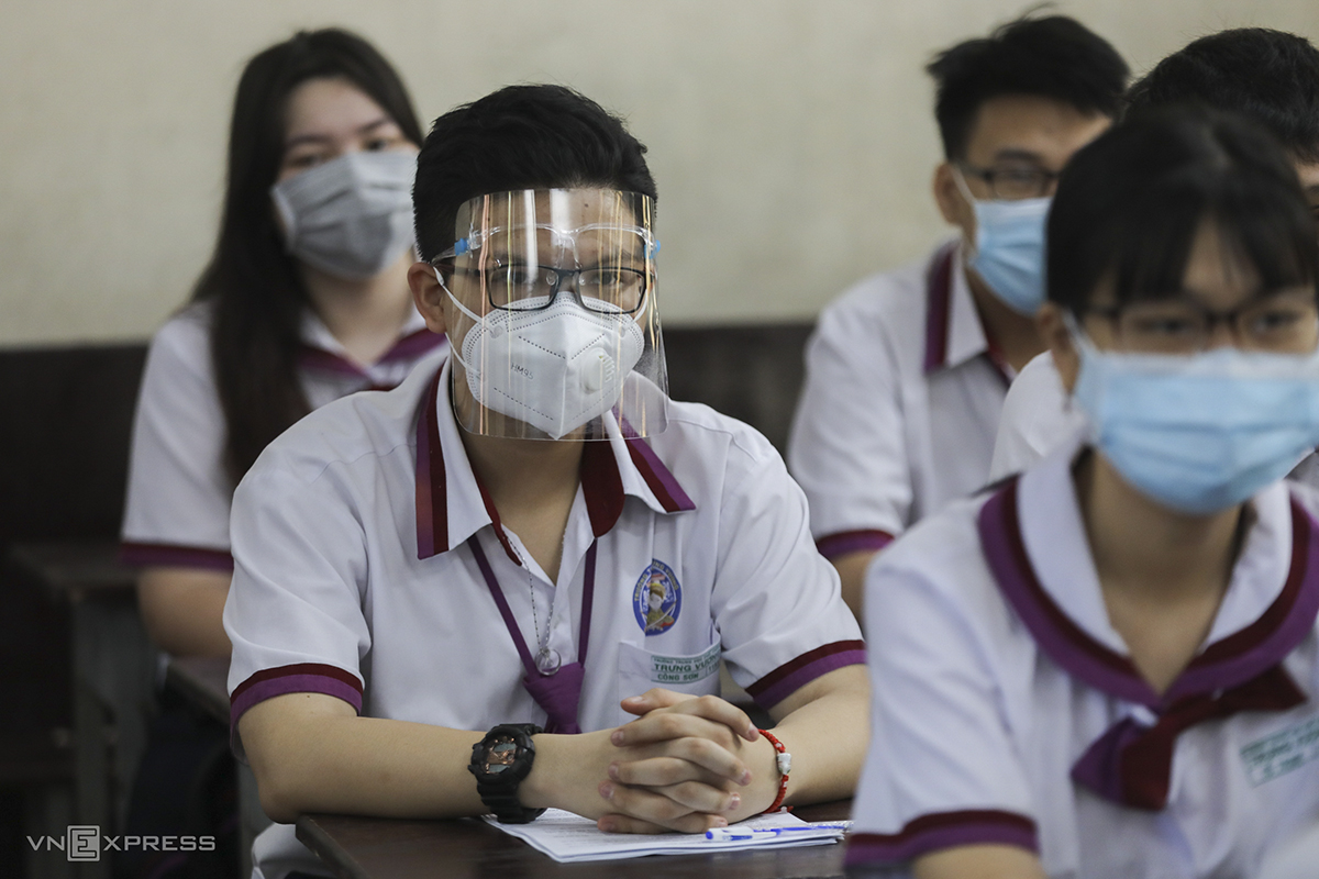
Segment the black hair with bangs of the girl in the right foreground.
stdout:
<svg viewBox="0 0 1319 879">
<path fill-rule="evenodd" d="M 1314 219 L 1266 130 L 1203 105 L 1132 113 L 1063 169 L 1049 212 L 1049 299 L 1080 315 L 1101 283 L 1117 304 L 1175 297 L 1206 220 L 1265 290 L 1315 286 Z"/>
</svg>

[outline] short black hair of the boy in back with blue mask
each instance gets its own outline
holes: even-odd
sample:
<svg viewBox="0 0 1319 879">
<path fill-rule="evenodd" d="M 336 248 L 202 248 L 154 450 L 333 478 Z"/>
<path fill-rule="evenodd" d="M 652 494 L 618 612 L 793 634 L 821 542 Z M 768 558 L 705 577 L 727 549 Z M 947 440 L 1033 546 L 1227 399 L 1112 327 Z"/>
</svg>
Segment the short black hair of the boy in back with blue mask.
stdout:
<svg viewBox="0 0 1319 879">
<path fill-rule="evenodd" d="M 1129 70 L 1107 40 L 1075 18 L 1021 17 L 985 38 L 959 42 L 926 66 L 943 154 L 966 157 L 980 105 L 1000 95 L 1037 95 L 1083 113 L 1117 116 Z"/>
</svg>

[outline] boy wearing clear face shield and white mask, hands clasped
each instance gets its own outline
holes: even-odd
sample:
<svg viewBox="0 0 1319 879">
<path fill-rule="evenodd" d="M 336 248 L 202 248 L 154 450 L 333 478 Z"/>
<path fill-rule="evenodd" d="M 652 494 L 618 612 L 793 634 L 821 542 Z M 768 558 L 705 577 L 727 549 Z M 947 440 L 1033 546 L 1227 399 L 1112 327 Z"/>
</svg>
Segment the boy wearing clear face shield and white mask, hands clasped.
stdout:
<svg viewBox="0 0 1319 879">
<path fill-rule="evenodd" d="M 644 150 L 557 86 L 437 120 L 409 282 L 450 358 L 318 410 L 235 498 L 233 721 L 276 821 L 702 832 L 851 795 L 860 631 L 773 447 L 665 393 Z M 309 866 L 282 824 L 255 859 Z"/>
</svg>

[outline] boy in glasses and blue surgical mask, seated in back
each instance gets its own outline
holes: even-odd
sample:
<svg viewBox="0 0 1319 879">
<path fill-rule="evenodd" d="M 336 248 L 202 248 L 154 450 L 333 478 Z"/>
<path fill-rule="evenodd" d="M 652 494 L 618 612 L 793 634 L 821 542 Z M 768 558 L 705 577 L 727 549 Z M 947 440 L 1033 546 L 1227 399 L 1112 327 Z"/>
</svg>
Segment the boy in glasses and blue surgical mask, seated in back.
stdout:
<svg viewBox="0 0 1319 879">
<path fill-rule="evenodd" d="M 1059 171 L 1108 128 L 1126 65 L 1076 21 L 1004 25 L 939 54 L 934 196 L 960 235 L 820 315 L 789 440 L 820 552 L 860 613 L 871 557 L 985 482 L 998 410 L 1043 349 L 1043 223 Z"/>
</svg>

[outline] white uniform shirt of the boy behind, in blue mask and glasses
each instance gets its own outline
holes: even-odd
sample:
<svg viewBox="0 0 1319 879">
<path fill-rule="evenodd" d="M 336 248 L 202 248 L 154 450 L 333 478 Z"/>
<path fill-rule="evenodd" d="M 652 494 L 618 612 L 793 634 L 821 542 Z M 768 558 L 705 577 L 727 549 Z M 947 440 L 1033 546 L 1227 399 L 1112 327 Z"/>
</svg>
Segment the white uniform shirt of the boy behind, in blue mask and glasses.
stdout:
<svg viewBox="0 0 1319 879">
<path fill-rule="evenodd" d="M 822 314 L 787 461 L 828 557 L 878 550 L 984 486 L 1012 368 L 985 337 L 948 242 Z"/>
</svg>

